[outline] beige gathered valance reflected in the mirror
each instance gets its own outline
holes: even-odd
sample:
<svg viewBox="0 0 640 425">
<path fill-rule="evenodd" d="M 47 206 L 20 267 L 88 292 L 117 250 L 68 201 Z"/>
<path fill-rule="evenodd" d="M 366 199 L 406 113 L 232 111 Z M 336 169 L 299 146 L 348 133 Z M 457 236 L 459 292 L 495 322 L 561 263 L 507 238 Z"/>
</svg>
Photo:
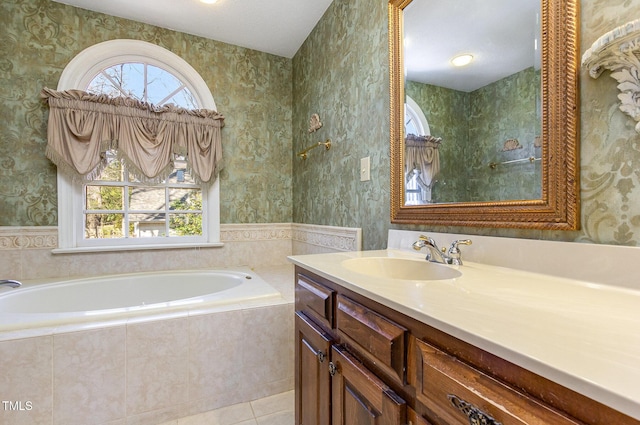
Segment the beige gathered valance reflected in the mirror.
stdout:
<svg viewBox="0 0 640 425">
<path fill-rule="evenodd" d="M 417 169 L 424 184 L 431 186 L 431 182 L 440 172 L 440 154 L 438 153 L 440 143 L 442 143 L 440 137 L 407 135 L 405 138 L 407 179 L 410 179 L 413 176 L 413 170 Z"/>
</svg>

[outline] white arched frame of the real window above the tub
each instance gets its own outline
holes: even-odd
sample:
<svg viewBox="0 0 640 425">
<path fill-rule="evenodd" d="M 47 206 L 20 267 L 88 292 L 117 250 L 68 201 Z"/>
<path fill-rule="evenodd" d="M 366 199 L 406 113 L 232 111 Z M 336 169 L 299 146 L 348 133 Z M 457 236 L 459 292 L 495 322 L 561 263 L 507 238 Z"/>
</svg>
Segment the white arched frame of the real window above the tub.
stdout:
<svg viewBox="0 0 640 425">
<path fill-rule="evenodd" d="M 162 68 L 180 80 L 198 105 L 216 110 L 209 87 L 200 74 L 178 55 L 140 40 L 111 40 L 80 52 L 62 71 L 58 90 L 85 90 L 103 69 L 126 62 L 140 62 Z M 220 242 L 220 182 L 203 190 L 203 236 L 135 239 L 86 239 L 84 237 L 82 185 L 58 170 L 58 248 L 54 253 L 78 251 L 122 251 L 134 249 L 222 246 Z"/>
</svg>

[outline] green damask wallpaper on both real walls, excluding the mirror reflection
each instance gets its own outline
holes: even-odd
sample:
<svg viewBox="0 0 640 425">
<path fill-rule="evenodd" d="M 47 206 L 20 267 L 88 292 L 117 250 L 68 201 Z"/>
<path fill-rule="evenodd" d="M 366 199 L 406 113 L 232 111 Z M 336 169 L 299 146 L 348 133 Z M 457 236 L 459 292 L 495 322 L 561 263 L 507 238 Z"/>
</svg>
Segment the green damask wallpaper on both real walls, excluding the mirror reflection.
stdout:
<svg viewBox="0 0 640 425">
<path fill-rule="evenodd" d="M 581 1 L 581 53 L 640 16 L 640 3 Z M 640 136 L 618 110 L 606 72 L 580 76 L 582 229 L 574 232 L 398 226 L 389 222 L 389 81 L 386 0 L 334 0 L 293 60 L 64 6 L 0 4 L 0 225 L 54 225 L 55 169 L 44 157 L 55 87 L 83 48 L 114 38 L 166 47 L 205 78 L 227 116 L 221 176 L 223 223 L 357 226 L 365 249 L 390 227 L 504 237 L 640 245 Z M 311 114 L 324 126 L 307 132 Z M 333 147 L 295 152 L 330 138 Z M 359 181 L 371 157 L 371 181 Z"/>
</svg>

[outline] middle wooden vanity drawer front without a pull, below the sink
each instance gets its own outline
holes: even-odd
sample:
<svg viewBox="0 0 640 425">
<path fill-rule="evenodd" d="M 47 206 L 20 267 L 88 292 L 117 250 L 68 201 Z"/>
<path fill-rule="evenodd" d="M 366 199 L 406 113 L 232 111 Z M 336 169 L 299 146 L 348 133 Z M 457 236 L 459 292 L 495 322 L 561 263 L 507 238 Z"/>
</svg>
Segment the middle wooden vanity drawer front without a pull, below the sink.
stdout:
<svg viewBox="0 0 640 425">
<path fill-rule="evenodd" d="M 336 321 L 345 342 L 404 383 L 406 328 L 342 295 L 337 298 Z"/>
</svg>

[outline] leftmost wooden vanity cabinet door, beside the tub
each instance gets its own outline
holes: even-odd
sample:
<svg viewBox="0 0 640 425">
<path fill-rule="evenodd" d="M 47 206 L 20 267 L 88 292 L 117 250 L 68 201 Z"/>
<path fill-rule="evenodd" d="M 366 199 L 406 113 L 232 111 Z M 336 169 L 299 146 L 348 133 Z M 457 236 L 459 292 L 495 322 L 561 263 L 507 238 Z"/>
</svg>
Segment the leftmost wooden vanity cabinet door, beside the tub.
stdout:
<svg viewBox="0 0 640 425">
<path fill-rule="evenodd" d="M 331 337 L 296 312 L 296 424 L 331 424 Z"/>
</svg>

